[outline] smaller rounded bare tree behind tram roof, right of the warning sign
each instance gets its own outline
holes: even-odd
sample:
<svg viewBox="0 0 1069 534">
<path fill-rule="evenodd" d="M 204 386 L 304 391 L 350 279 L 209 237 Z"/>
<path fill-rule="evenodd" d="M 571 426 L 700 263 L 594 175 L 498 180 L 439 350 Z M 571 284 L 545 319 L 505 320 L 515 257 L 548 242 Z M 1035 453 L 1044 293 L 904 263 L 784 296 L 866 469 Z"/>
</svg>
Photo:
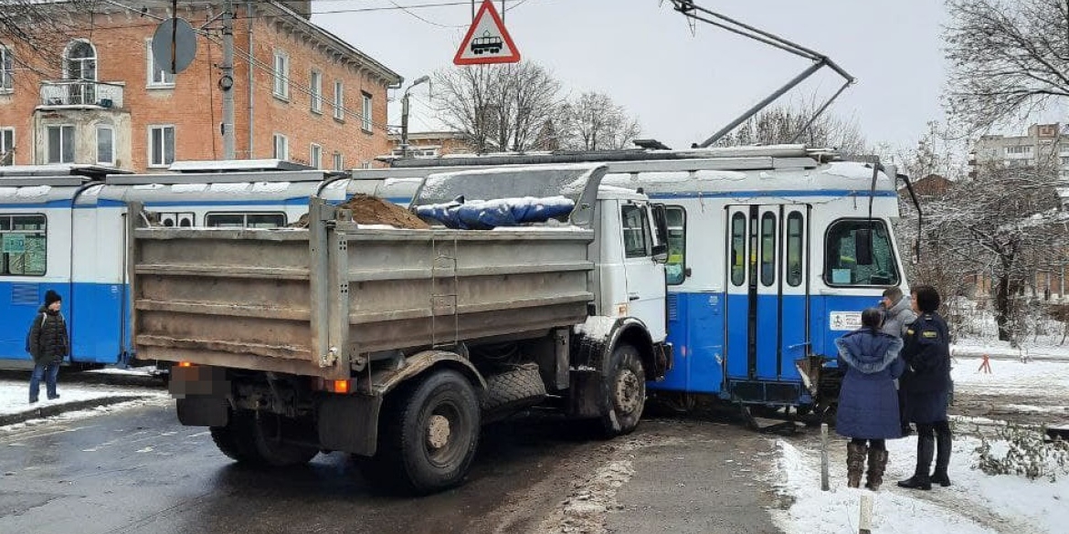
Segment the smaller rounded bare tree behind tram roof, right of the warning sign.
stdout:
<svg viewBox="0 0 1069 534">
<path fill-rule="evenodd" d="M 556 128 L 560 147 L 582 151 L 618 151 L 631 145 L 642 131 L 623 106 L 593 92 L 561 106 Z"/>
</svg>

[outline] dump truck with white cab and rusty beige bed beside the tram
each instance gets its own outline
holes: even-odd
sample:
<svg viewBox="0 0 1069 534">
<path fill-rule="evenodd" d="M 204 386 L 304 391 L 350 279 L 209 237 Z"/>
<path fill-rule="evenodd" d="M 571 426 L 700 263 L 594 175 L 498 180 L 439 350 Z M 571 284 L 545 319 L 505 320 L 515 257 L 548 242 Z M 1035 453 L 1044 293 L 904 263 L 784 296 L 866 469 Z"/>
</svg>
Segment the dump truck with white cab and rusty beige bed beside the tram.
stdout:
<svg viewBox="0 0 1069 534">
<path fill-rule="evenodd" d="M 179 420 L 238 462 L 350 453 L 416 493 L 461 484 L 481 426 L 536 405 L 630 433 L 671 364 L 666 225 L 605 173 L 435 174 L 412 202 L 574 206 L 505 227 L 361 225 L 313 198 L 307 229 L 130 229 L 137 358 L 172 362 Z"/>
</svg>

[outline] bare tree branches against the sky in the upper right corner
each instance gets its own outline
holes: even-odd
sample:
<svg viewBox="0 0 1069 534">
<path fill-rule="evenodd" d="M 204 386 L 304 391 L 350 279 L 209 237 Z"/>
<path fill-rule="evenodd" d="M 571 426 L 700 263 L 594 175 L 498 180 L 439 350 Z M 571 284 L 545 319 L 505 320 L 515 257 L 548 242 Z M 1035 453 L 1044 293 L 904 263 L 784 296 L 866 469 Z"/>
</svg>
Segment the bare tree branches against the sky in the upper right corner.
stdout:
<svg viewBox="0 0 1069 534">
<path fill-rule="evenodd" d="M 974 131 L 1069 96 L 1069 3 L 947 0 L 950 112 Z"/>
</svg>

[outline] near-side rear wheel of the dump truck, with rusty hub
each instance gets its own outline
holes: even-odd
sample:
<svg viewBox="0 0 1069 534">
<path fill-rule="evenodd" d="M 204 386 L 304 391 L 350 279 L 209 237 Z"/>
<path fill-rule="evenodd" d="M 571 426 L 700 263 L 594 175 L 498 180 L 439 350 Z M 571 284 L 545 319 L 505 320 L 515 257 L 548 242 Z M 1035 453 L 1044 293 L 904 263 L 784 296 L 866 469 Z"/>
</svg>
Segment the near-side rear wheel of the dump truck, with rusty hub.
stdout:
<svg viewBox="0 0 1069 534">
<path fill-rule="evenodd" d="M 459 485 L 479 443 L 479 398 L 471 383 L 455 371 L 438 371 L 398 400 L 374 461 L 392 465 L 404 489 L 416 493 Z"/>
</svg>

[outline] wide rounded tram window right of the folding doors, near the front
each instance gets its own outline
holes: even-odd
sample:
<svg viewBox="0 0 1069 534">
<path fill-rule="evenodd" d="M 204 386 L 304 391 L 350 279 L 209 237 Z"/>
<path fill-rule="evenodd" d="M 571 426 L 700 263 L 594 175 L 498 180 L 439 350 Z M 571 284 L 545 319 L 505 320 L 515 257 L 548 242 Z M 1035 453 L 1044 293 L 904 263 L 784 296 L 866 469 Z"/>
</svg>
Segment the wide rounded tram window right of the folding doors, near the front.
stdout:
<svg viewBox="0 0 1069 534">
<path fill-rule="evenodd" d="M 854 257 L 859 230 L 871 229 L 872 263 L 859 265 Z M 883 221 L 840 220 L 827 230 L 824 281 L 828 285 L 897 285 L 898 269 L 890 234 Z"/>
</svg>

